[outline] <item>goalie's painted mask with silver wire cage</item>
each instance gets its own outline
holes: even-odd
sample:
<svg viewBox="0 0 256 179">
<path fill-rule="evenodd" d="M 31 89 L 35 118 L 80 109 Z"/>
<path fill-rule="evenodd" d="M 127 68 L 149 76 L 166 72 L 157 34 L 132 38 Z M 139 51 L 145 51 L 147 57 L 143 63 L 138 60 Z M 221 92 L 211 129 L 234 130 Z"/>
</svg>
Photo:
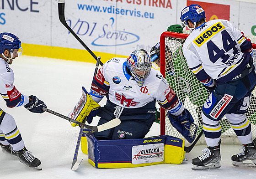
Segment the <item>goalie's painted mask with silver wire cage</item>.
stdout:
<svg viewBox="0 0 256 179">
<path fill-rule="evenodd" d="M 127 66 L 139 87 L 142 87 L 151 70 L 148 52 L 143 49 L 133 51 L 127 58 Z"/>
</svg>

